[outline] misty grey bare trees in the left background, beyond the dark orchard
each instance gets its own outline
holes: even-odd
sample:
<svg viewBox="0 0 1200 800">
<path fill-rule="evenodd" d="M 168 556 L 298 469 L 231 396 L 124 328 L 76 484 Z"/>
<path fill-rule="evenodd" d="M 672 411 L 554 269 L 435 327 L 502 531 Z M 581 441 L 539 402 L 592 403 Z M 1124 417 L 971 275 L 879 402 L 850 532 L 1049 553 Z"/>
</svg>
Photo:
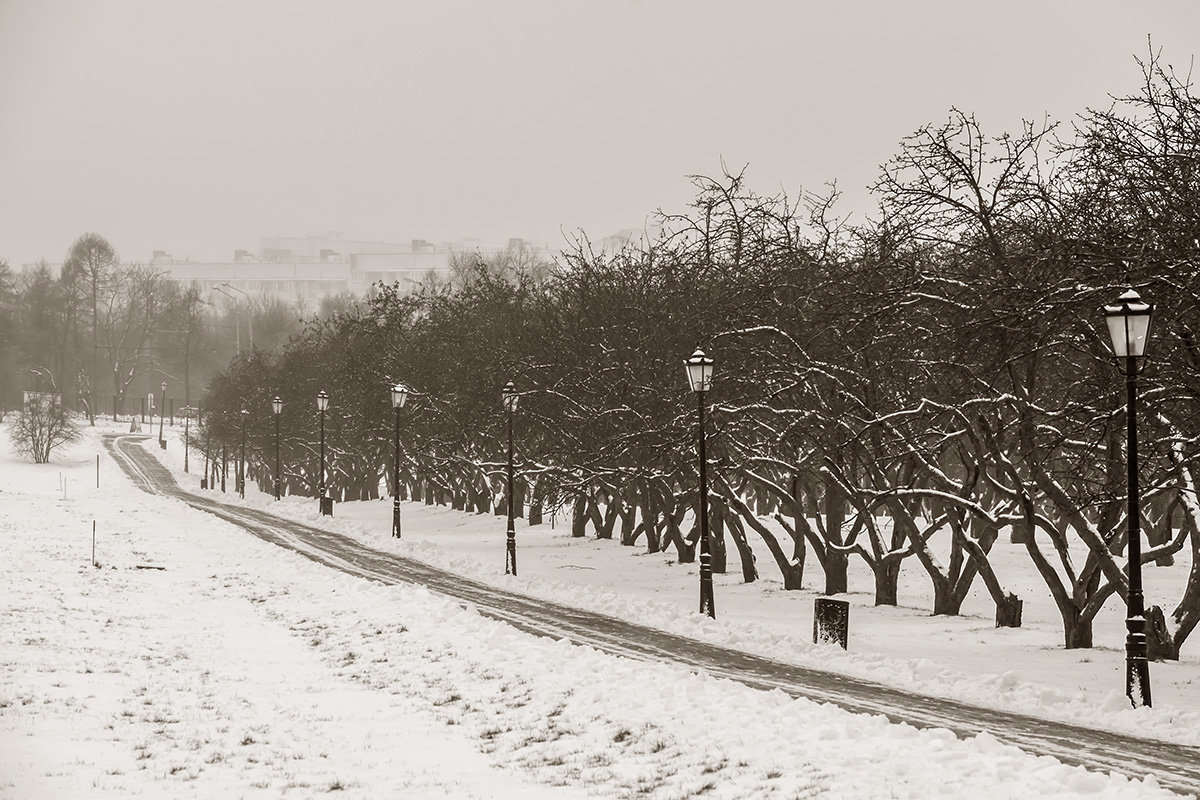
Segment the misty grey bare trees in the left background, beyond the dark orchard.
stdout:
<svg viewBox="0 0 1200 800">
<path fill-rule="evenodd" d="M 181 413 L 239 349 L 282 348 L 300 327 L 299 309 L 283 301 L 214 303 L 200 285 L 122 263 L 88 233 L 58 270 L 44 259 L 23 271 L 0 260 L 0 409 L 40 391 L 60 393 L 65 409 L 91 420 L 137 414 L 139 398 L 157 397 L 167 381 Z"/>
</svg>

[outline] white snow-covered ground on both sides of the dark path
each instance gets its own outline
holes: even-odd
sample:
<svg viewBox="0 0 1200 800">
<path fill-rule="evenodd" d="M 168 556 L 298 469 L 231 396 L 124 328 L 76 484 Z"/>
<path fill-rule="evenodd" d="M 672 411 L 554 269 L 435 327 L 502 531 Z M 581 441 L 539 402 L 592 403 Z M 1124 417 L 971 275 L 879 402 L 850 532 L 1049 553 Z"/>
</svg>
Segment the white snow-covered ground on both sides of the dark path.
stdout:
<svg viewBox="0 0 1200 800">
<path fill-rule="evenodd" d="M 103 429 L 49 465 L 0 451 L 0 798 L 1176 796 L 1153 778 L 540 639 L 418 588 L 340 575 L 142 493 L 103 455 L 97 488 Z M 198 491 L 197 467 L 181 482 Z M 522 575 L 505 578 L 496 517 L 406 504 L 397 542 L 390 501 L 341 504 L 334 519 L 307 499 L 246 503 L 798 663 L 1200 740 L 1189 646 L 1178 664 L 1152 664 L 1156 708 L 1128 710 L 1120 610 L 1097 627 L 1103 648 L 1064 652 L 1049 601 L 1016 577 L 1026 628 L 994 631 L 984 604 L 935 619 L 853 594 L 841 654 L 808 643 L 814 593 L 784 593 L 762 558 L 768 579 L 719 577 L 714 622 L 694 613 L 694 565 L 562 525 L 521 529 Z M 923 587 L 907 579 L 902 602 L 916 606 Z"/>
</svg>

